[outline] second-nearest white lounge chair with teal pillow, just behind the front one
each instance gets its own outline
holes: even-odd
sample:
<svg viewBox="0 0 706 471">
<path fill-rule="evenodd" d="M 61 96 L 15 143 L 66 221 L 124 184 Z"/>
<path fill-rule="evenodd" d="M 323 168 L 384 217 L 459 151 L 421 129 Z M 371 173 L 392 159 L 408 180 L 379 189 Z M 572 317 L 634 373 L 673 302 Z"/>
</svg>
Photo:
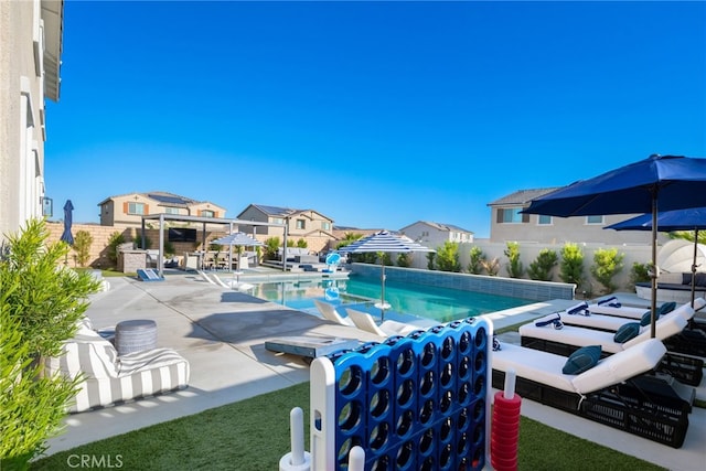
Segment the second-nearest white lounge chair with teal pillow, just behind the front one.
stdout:
<svg viewBox="0 0 706 471">
<path fill-rule="evenodd" d="M 689 310 L 691 307 L 687 307 L 686 312 Z M 614 340 L 617 332 L 606 332 L 577 325 L 564 325 L 557 330 L 550 325 L 537 325 L 537 323 L 543 324 L 544 322 L 530 322 L 520 327 L 521 344 L 530 349 L 556 353 L 557 355 L 570 355 L 581 346 L 600 345 L 605 356 L 629 350 L 649 340 L 651 336 L 650 325 L 642 328 L 638 325 L 639 332 L 637 335 L 620 343 Z M 660 341 L 670 339 L 682 332 L 686 328 L 686 324 L 687 322 L 684 315 L 667 314 L 656 321 L 655 338 Z M 668 372 L 684 384 L 695 386 L 698 385 L 703 378 L 703 360 L 670 352 L 668 355 L 664 356 L 659 370 Z M 694 392 L 691 390 L 686 394 L 693 396 Z"/>
</svg>

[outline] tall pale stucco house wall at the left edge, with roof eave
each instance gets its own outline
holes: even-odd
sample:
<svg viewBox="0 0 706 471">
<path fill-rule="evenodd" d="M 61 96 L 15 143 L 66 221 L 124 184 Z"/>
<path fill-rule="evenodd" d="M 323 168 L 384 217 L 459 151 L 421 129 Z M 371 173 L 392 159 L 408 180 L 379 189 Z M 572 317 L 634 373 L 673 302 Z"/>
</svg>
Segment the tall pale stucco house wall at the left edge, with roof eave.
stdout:
<svg viewBox="0 0 706 471">
<path fill-rule="evenodd" d="M 0 238 L 53 215 L 45 100 L 58 101 L 63 28 L 63 1 L 0 1 Z"/>
</svg>

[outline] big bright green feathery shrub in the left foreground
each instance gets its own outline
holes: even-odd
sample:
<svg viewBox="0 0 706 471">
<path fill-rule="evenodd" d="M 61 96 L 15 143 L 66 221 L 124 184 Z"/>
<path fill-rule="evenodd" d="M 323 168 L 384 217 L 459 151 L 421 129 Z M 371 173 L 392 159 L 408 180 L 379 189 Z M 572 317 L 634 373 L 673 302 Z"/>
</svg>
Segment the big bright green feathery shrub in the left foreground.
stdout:
<svg viewBox="0 0 706 471">
<path fill-rule="evenodd" d="M 30 220 L 20 235 L 8 236 L 0 260 L 0 432 L 3 468 L 24 468 L 57 430 L 76 383 L 43 377 L 44 357 L 61 353 L 100 283 L 88 271 L 63 267 L 69 247 L 46 244 L 43 220 Z M 24 463 L 24 464 L 23 464 Z"/>
</svg>

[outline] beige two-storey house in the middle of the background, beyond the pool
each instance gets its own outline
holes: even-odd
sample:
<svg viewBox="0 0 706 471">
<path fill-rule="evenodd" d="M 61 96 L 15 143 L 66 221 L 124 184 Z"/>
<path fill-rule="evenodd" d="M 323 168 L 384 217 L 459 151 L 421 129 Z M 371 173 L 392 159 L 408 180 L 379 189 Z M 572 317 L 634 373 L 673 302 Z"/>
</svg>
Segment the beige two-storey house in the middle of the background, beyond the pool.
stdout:
<svg viewBox="0 0 706 471">
<path fill-rule="evenodd" d="M 321 251 L 335 239 L 333 220 L 314 210 L 296 210 L 291 207 L 250 204 L 236 217 L 239 221 L 286 224 L 288 242 L 304 239 L 311 251 Z M 239 226 L 239 231 L 257 236 L 258 239 L 280 237 L 284 240 L 284 227 Z"/>
</svg>

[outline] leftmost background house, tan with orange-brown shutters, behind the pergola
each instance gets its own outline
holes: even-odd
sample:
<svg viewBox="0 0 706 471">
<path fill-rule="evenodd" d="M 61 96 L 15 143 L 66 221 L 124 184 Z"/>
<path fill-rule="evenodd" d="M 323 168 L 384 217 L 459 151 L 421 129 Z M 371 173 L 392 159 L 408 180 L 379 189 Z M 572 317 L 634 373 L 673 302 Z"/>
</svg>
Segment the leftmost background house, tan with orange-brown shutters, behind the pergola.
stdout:
<svg viewBox="0 0 706 471">
<path fill-rule="evenodd" d="M 139 227 L 148 214 L 225 217 L 225 207 L 207 201 L 195 201 L 167 192 L 127 193 L 109 196 L 98 203 L 100 225 L 128 225 Z"/>
</svg>

